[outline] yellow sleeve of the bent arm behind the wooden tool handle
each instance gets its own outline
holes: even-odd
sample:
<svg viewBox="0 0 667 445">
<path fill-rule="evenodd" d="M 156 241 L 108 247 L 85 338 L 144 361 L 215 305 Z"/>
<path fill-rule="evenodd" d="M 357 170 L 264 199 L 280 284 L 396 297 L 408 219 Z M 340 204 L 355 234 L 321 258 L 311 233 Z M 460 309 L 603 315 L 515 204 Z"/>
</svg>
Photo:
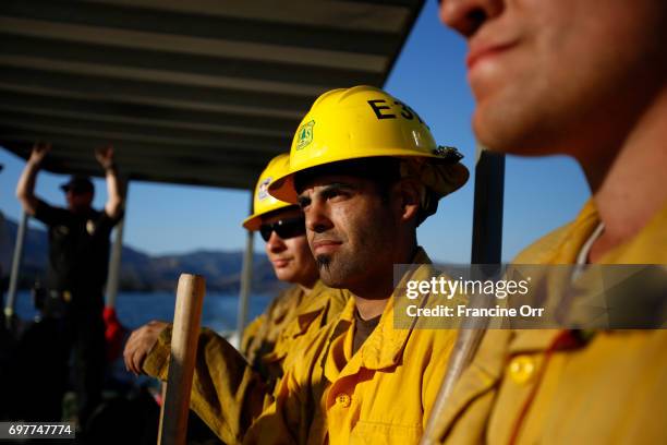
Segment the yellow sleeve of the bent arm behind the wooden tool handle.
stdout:
<svg viewBox="0 0 667 445">
<path fill-rule="evenodd" d="M 171 326 L 162 330 L 144 371 L 167 378 Z M 270 395 L 259 375 L 225 338 L 199 333 L 190 408 L 228 444 L 240 443 Z"/>
</svg>

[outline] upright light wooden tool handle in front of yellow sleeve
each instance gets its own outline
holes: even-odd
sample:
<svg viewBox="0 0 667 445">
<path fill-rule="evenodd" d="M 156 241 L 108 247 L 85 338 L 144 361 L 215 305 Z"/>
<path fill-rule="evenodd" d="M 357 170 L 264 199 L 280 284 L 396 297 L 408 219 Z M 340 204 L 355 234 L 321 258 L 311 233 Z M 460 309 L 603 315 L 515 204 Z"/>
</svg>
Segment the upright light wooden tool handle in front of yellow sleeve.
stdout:
<svg viewBox="0 0 667 445">
<path fill-rule="evenodd" d="M 159 445 L 185 444 L 205 289 L 203 276 L 181 274 L 173 314 L 167 390 L 160 413 Z"/>
</svg>

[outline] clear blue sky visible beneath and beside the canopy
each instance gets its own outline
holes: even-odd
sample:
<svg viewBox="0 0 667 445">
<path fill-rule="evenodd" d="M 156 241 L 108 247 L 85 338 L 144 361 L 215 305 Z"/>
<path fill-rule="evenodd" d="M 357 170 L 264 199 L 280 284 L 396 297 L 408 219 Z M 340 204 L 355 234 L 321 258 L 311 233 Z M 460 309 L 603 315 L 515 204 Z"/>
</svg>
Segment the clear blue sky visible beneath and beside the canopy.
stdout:
<svg viewBox="0 0 667 445">
<path fill-rule="evenodd" d="M 474 103 L 465 81 L 465 43 L 439 23 L 436 3 L 427 0 L 385 88 L 420 113 L 438 143 L 457 146 L 472 171 L 475 139 L 470 120 Z M 0 172 L 0 211 L 17 219 L 20 206 L 14 188 L 24 161 L 2 148 L 0 164 L 4 165 Z M 43 172 L 37 194 L 50 203 L 63 204 L 58 190 L 63 181 L 62 176 Z M 95 205 L 101 207 L 105 184 L 101 180 L 95 183 Z M 583 175 L 571 159 L 509 157 L 504 260 L 511 260 L 539 236 L 572 219 L 589 195 Z M 248 203 L 248 191 L 133 182 L 125 243 L 150 254 L 241 250 L 245 239 L 241 221 L 247 215 Z M 470 261 L 472 203 L 471 178 L 463 189 L 441 201 L 438 213 L 420 227 L 419 241 L 433 258 Z M 259 239 L 255 241 L 258 251 L 260 243 Z"/>
</svg>

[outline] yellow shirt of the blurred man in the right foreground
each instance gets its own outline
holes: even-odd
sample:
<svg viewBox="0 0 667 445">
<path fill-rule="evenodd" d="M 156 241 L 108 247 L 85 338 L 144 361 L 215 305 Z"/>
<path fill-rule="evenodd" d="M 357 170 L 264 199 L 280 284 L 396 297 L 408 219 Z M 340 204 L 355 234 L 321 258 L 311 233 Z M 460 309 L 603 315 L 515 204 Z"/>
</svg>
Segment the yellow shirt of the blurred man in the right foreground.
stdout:
<svg viewBox="0 0 667 445">
<path fill-rule="evenodd" d="M 573 264 L 599 224 L 589 202 L 516 264 Z M 601 264 L 667 264 L 667 207 Z M 447 444 L 667 442 L 667 330 L 488 330 L 437 419 Z"/>
</svg>

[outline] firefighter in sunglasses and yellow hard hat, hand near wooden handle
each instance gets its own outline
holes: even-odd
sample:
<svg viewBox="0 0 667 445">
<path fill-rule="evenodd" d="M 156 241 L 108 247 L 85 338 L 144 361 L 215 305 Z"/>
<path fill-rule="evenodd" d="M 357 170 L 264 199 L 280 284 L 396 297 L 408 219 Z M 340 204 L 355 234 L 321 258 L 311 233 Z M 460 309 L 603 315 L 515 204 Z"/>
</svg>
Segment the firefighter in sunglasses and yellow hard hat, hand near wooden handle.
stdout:
<svg viewBox="0 0 667 445">
<path fill-rule="evenodd" d="M 245 330 L 245 357 L 210 329 L 199 335 L 203 353 L 197 356 L 191 408 L 225 443 L 238 443 L 265 401 L 271 400 L 292 344 L 337 317 L 349 298 L 319 281 L 301 209 L 266 192 L 270 179 L 287 170 L 288 160 L 287 154 L 277 156 L 260 175 L 254 213 L 243 227 L 260 232 L 276 276 L 293 286 Z M 170 340 L 171 325 L 165 322 L 136 329 L 125 346 L 128 369 L 166 380 Z"/>
</svg>

